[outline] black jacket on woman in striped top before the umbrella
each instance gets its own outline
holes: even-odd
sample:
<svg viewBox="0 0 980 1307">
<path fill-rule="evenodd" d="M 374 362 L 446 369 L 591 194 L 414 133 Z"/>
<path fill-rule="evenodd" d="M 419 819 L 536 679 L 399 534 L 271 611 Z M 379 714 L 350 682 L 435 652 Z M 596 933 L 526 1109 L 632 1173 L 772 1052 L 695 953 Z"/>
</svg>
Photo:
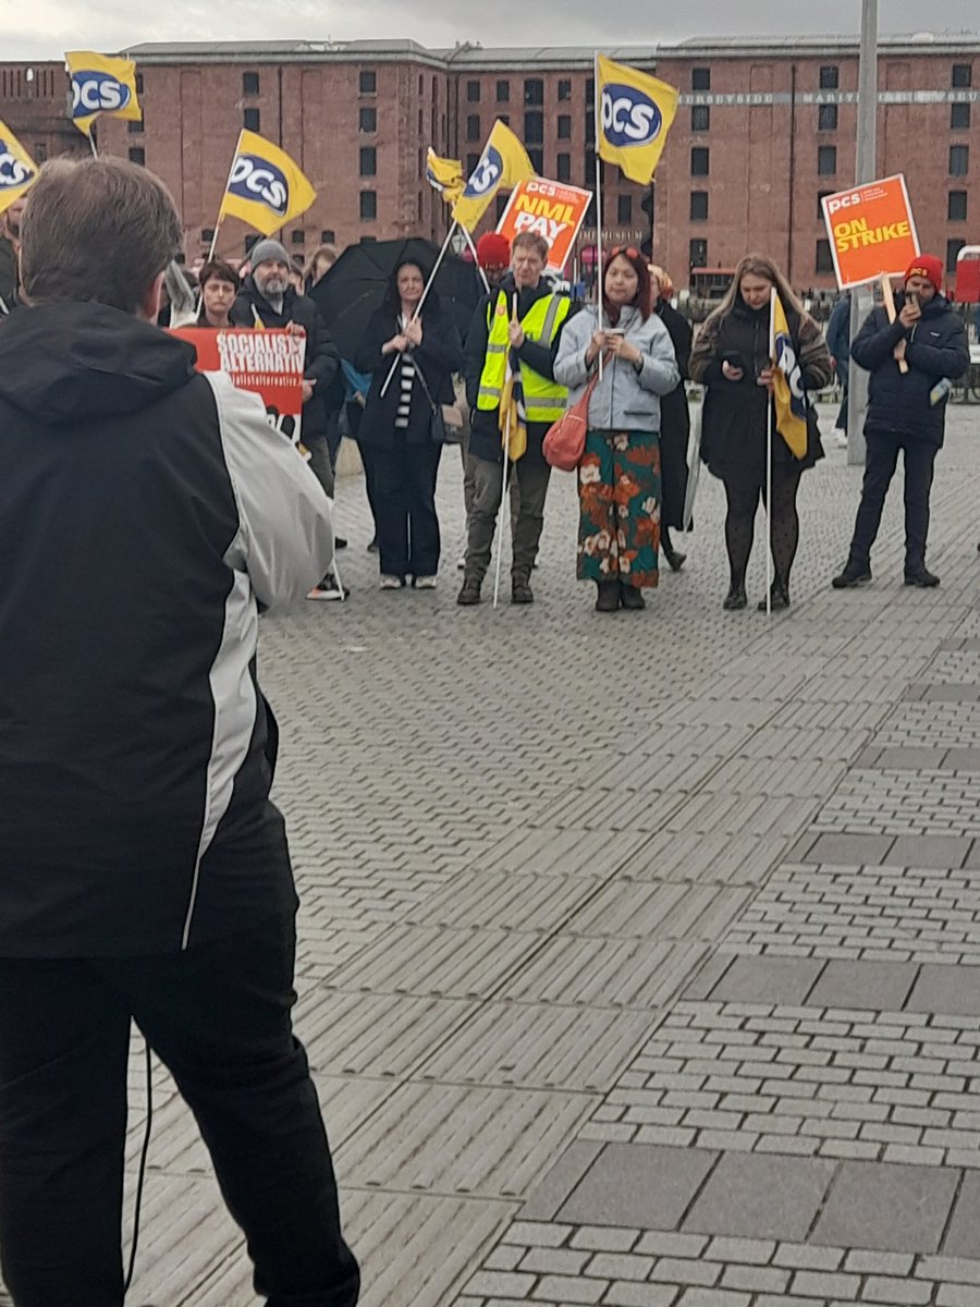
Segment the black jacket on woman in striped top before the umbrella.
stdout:
<svg viewBox="0 0 980 1307">
<path fill-rule="evenodd" d="M 443 312 L 435 295 L 430 295 L 421 314 L 422 344 L 412 350 L 417 367 L 425 375 L 426 386 L 436 404 L 455 404 L 456 396 L 452 388 L 452 374 L 459 372 L 463 366 L 463 348 L 460 333 L 452 319 Z M 382 396 L 382 388 L 388 380 L 392 363 L 397 354 L 382 354 L 382 346 L 399 335 L 399 316 L 387 307 L 375 310 L 365 332 L 361 348 L 354 358 L 354 367 L 359 372 L 371 374 L 371 388 L 367 392 L 365 413 L 361 418 L 358 440 L 374 444 L 380 448 L 391 448 L 395 444 L 395 417 L 401 397 L 399 387 L 399 370 L 391 379 L 388 389 Z M 409 443 L 419 444 L 430 439 L 429 420 L 431 408 L 426 393 L 416 376 L 412 387 L 412 408 L 409 410 L 409 425 L 406 439 Z"/>
</svg>

